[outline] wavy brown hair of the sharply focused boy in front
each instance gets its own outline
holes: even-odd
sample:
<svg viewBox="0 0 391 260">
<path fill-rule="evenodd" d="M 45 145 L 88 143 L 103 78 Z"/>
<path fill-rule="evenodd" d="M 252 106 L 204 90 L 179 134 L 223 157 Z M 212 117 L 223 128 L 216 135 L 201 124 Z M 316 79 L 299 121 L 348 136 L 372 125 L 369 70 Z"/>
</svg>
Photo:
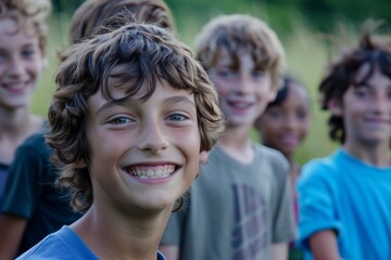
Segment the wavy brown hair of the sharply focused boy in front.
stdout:
<svg viewBox="0 0 391 260">
<path fill-rule="evenodd" d="M 93 156 L 86 136 L 87 101 L 98 91 L 114 100 L 113 88 L 126 88 L 126 99 L 141 89 L 148 100 L 157 81 L 194 94 L 201 136 L 200 151 L 210 151 L 224 130 L 217 94 L 188 47 L 173 34 L 148 24 L 128 24 L 112 32 L 71 47 L 72 53 L 56 73 L 56 90 L 49 108 L 51 129 L 47 142 L 62 168 L 60 183 L 70 188 L 75 210 L 87 210 L 93 200 L 88 168 Z M 110 84 L 115 78 L 118 84 Z M 127 87 L 129 86 L 129 87 Z M 186 140 L 184 140 L 186 142 Z M 87 168 L 77 169 L 79 160 Z"/>
</svg>

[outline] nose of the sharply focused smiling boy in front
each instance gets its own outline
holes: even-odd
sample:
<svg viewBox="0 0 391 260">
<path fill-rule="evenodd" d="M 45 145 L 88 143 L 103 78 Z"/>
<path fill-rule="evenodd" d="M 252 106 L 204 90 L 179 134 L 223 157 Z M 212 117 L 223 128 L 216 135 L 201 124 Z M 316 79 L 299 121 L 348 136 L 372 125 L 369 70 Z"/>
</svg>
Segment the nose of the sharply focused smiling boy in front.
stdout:
<svg viewBox="0 0 391 260">
<path fill-rule="evenodd" d="M 163 127 L 156 122 L 146 125 L 143 134 L 139 136 L 139 150 L 150 153 L 159 153 L 168 147 Z"/>
</svg>

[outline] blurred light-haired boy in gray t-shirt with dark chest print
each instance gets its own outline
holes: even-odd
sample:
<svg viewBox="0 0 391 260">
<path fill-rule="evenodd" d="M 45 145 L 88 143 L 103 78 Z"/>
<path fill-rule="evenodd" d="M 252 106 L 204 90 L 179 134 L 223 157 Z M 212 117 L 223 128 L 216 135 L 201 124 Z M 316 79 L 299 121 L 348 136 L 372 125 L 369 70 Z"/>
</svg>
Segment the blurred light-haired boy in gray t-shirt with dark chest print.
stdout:
<svg viewBox="0 0 391 260">
<path fill-rule="evenodd" d="M 214 18 L 197 54 L 218 94 L 227 129 L 172 214 L 160 249 L 171 259 L 287 259 L 294 239 L 288 162 L 254 144 L 254 120 L 276 95 L 283 50 L 275 32 L 249 15 Z"/>
</svg>

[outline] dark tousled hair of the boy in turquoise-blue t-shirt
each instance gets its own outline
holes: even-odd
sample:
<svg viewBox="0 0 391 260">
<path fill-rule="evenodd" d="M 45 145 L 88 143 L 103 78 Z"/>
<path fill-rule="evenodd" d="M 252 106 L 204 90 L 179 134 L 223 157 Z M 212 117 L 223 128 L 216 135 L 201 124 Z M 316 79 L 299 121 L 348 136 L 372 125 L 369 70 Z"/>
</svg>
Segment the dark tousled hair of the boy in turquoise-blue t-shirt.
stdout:
<svg viewBox="0 0 391 260">
<path fill-rule="evenodd" d="M 328 104 L 332 99 L 342 102 L 346 90 L 351 87 L 356 88 L 364 84 L 374 75 L 375 69 L 379 69 L 381 74 L 391 78 L 391 38 L 373 35 L 371 31 L 375 28 L 373 23 L 367 22 L 364 25 L 358 44 L 329 65 L 319 84 L 321 109 L 329 109 Z M 368 65 L 369 68 L 357 82 L 357 73 L 364 64 Z M 328 125 L 331 140 L 343 144 L 345 141 L 343 119 L 331 115 Z"/>
</svg>

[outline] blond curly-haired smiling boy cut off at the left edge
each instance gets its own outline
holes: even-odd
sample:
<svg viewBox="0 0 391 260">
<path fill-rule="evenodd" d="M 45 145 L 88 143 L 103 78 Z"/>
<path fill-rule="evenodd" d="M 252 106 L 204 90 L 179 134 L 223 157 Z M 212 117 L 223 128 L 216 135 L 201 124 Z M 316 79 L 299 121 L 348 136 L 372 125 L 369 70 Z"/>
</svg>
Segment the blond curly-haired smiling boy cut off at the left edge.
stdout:
<svg viewBox="0 0 391 260">
<path fill-rule="evenodd" d="M 0 198 L 17 146 L 43 126 L 30 101 L 47 65 L 50 10 L 47 0 L 0 2 Z"/>
</svg>

